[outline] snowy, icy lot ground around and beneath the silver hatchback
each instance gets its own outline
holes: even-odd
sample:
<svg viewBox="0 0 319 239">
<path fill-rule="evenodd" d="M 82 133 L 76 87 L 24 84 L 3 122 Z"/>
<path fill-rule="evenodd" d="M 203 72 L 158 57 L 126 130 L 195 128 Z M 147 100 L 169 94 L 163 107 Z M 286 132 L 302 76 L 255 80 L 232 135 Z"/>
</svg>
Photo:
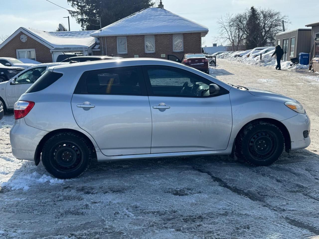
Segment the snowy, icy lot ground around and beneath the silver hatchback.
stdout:
<svg viewBox="0 0 319 239">
<path fill-rule="evenodd" d="M 319 82 L 307 74 L 217 60 L 211 75 L 298 99 L 312 120 L 307 149 L 269 167 L 228 156 L 95 163 L 59 180 L 15 159 L 0 120 L 0 238 L 319 238 Z"/>
</svg>

